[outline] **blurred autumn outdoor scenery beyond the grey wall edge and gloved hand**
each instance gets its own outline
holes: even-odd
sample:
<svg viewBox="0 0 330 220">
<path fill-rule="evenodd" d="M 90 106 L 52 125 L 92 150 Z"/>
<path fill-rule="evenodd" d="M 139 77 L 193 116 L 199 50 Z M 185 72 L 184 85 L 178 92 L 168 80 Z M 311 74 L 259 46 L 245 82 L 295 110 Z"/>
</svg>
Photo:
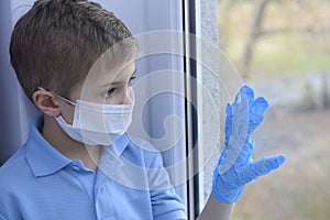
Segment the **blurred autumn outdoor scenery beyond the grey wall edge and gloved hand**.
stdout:
<svg viewBox="0 0 330 220">
<path fill-rule="evenodd" d="M 221 47 L 271 108 L 255 160 L 286 163 L 245 188 L 234 220 L 330 217 L 330 1 L 218 0 Z"/>
</svg>

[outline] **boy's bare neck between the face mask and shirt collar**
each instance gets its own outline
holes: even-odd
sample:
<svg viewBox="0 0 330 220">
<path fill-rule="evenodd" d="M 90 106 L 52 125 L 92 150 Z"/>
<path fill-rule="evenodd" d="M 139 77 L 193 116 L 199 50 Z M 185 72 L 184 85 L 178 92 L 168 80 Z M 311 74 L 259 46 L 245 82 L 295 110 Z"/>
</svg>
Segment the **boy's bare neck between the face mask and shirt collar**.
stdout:
<svg viewBox="0 0 330 220">
<path fill-rule="evenodd" d="M 70 139 L 53 117 L 44 116 L 42 135 L 64 156 L 72 160 L 80 160 L 86 168 L 97 170 L 102 147 L 88 146 Z"/>
</svg>

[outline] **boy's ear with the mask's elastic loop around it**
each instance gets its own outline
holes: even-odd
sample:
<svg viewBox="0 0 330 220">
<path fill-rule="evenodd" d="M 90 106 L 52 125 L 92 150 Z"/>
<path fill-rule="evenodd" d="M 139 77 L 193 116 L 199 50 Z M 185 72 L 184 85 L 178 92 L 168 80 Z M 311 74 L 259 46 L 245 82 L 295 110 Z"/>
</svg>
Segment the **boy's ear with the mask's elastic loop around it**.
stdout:
<svg viewBox="0 0 330 220">
<path fill-rule="evenodd" d="M 59 102 L 52 91 L 36 90 L 34 91 L 33 101 L 35 106 L 46 116 L 58 117 L 61 114 Z"/>
</svg>

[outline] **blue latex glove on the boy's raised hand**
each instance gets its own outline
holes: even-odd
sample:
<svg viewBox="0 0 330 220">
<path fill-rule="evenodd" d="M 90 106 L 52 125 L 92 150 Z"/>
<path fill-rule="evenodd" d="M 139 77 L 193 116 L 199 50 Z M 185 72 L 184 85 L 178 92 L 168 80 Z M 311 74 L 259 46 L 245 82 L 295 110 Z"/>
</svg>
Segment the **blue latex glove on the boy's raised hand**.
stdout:
<svg viewBox="0 0 330 220">
<path fill-rule="evenodd" d="M 264 119 L 268 107 L 264 98 L 254 99 L 253 90 L 243 86 L 233 105 L 227 106 L 224 150 L 213 172 L 213 197 L 221 202 L 235 202 L 248 183 L 266 175 L 284 163 L 284 156 L 252 160 L 252 132 Z"/>
</svg>

